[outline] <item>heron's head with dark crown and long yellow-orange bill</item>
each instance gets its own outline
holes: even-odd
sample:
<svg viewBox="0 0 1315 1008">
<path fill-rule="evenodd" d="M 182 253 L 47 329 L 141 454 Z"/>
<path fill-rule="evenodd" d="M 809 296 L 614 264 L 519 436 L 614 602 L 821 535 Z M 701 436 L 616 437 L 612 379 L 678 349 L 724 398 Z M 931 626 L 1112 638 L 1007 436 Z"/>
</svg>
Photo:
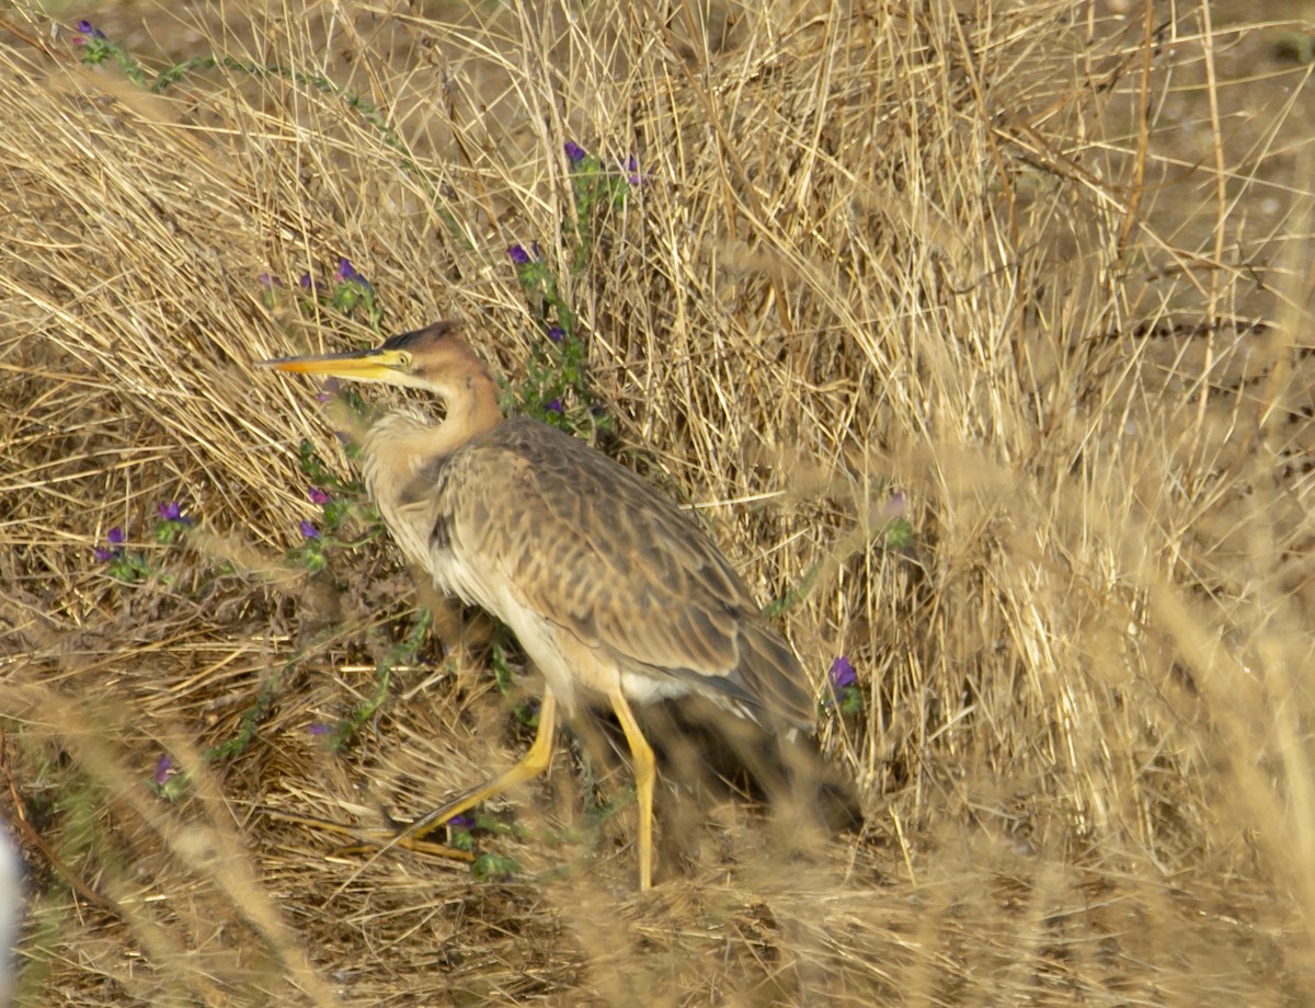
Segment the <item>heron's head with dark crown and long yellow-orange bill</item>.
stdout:
<svg viewBox="0 0 1315 1008">
<path fill-rule="evenodd" d="M 275 357 L 262 360 L 260 365 L 301 375 L 381 381 L 437 393 L 447 392 L 454 381 L 460 381 L 472 369 L 487 375 L 479 357 L 459 335 L 455 322 L 435 322 L 414 332 L 402 332 L 370 350 Z"/>
</svg>

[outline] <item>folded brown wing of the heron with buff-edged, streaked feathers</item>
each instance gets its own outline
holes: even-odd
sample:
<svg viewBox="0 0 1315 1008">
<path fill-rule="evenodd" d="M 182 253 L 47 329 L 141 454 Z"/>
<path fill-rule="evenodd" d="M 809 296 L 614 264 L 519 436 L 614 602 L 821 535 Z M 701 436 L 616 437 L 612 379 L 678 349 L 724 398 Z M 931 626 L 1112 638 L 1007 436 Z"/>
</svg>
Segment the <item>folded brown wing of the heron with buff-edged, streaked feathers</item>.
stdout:
<svg viewBox="0 0 1315 1008">
<path fill-rule="evenodd" d="M 810 728 L 794 653 L 693 519 L 537 421 L 469 442 L 443 473 L 452 547 L 625 672 L 676 678 L 768 725 Z"/>
</svg>

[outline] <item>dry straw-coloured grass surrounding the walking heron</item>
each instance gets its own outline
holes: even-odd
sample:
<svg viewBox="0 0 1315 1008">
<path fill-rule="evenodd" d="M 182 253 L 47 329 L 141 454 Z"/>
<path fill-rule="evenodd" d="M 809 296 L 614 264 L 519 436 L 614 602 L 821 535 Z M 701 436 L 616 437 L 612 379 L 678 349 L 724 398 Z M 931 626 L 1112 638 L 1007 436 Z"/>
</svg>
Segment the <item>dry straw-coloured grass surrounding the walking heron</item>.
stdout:
<svg viewBox="0 0 1315 1008">
<path fill-rule="evenodd" d="M 5 16 L 20 1003 L 1315 997 L 1315 113 L 1283 26 L 764 7 L 153 14 L 172 59 L 368 96 L 418 170 L 341 93 L 205 70 L 156 97 Z M 150 51 L 134 24 L 103 28 Z M 567 139 L 647 177 L 579 275 Z M 819 687 L 838 653 L 860 670 L 867 716 L 827 741 L 869 816 L 814 863 L 711 810 L 717 849 L 638 898 L 627 815 L 588 829 L 568 760 L 489 841 L 525 866 L 505 884 L 263 815 L 421 811 L 525 740 L 485 656 L 438 643 L 346 752 L 308 733 L 416 601 L 387 541 L 284 560 L 313 516 L 299 440 L 347 467 L 313 390 L 252 361 L 368 334 L 256 277 L 348 255 L 385 329 L 469 319 L 515 376 L 540 336 L 505 250 L 530 241 L 652 478 L 763 598 L 823 561 L 784 623 Z M 201 534 L 151 547 L 174 498 Z M 874 535 L 901 506 L 907 552 Z M 107 576 L 114 526 L 159 574 Z M 203 760 L 275 676 L 247 750 Z M 195 774 L 175 803 L 146 786 L 162 752 Z"/>
</svg>

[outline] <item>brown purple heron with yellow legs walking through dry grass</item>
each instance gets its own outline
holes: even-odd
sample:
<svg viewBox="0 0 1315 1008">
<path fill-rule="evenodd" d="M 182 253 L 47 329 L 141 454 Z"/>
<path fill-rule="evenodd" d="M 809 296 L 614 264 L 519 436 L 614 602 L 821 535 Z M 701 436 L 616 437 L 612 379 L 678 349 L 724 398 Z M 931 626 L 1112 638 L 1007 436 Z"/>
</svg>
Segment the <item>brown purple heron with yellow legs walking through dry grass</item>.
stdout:
<svg viewBox="0 0 1315 1008">
<path fill-rule="evenodd" d="M 725 720 L 755 729 L 732 745 L 775 750 L 767 762 L 777 767 L 777 790 L 821 795 L 825 778 L 834 782 L 811 744 L 815 703 L 803 669 L 713 540 L 585 442 L 538 421 L 505 419 L 497 384 L 455 323 L 372 350 L 262 363 L 425 389 L 443 401 L 439 423 L 392 413 L 368 430 L 367 489 L 408 560 L 441 593 L 501 619 L 546 681 L 525 757 L 393 842 L 406 845 L 542 773 L 559 706 L 571 716 L 581 699 L 605 699 L 630 746 L 643 890 L 652 879 L 658 769 L 633 704 L 702 698 Z M 853 821 L 852 785 L 846 790 L 842 815 Z"/>
</svg>

